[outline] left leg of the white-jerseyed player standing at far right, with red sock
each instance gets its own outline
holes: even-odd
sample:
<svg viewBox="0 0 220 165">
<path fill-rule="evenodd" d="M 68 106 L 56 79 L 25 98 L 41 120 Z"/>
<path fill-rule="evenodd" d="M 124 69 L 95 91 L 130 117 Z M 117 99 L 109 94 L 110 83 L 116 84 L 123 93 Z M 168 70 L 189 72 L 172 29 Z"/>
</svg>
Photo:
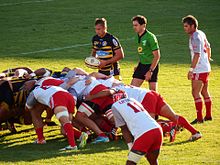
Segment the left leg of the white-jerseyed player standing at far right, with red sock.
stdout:
<svg viewBox="0 0 220 165">
<path fill-rule="evenodd" d="M 192 122 L 192 124 L 202 123 L 203 116 L 202 116 L 202 98 L 201 98 L 201 91 L 203 89 L 203 82 L 201 80 L 192 80 L 192 95 L 195 101 L 196 113 L 197 118 Z"/>
</svg>

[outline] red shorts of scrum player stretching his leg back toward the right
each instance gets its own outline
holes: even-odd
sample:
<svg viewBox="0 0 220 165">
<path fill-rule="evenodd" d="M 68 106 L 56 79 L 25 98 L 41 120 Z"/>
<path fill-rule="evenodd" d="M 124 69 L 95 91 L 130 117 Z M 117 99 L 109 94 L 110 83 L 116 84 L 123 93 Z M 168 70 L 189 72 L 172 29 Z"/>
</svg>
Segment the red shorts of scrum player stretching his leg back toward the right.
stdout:
<svg viewBox="0 0 220 165">
<path fill-rule="evenodd" d="M 166 105 L 166 102 L 159 93 L 150 91 L 145 95 L 141 104 L 149 113 L 159 115 L 161 108 Z"/>
</svg>

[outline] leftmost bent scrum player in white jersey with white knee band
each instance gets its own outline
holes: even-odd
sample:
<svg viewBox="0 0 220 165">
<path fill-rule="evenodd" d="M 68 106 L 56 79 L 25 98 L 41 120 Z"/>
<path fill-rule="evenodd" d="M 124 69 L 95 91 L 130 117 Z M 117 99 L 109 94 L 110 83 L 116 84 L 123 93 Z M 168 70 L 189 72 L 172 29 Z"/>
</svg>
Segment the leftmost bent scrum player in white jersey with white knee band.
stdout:
<svg viewBox="0 0 220 165">
<path fill-rule="evenodd" d="M 40 111 L 36 108 L 37 102 L 50 107 L 65 130 L 69 145 L 62 150 L 77 150 L 74 134 L 77 134 L 78 137 L 85 135 L 74 130 L 71 124 L 75 107 L 73 96 L 61 87 L 56 86 L 36 87 L 28 96 L 26 107 L 31 110 L 31 116 L 37 134 L 37 140 L 35 142 L 44 144 L 46 141 L 43 135 L 43 121 L 41 118 L 43 110 Z M 81 141 L 80 147 L 83 147 L 87 138 L 81 137 L 81 139 L 84 141 Z"/>
</svg>

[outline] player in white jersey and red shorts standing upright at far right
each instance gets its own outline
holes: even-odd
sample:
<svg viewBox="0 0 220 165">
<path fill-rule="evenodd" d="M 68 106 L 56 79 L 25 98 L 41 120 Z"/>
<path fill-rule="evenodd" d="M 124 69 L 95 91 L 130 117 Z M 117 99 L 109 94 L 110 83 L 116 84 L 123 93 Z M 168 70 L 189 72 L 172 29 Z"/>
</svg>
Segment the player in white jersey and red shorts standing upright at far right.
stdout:
<svg viewBox="0 0 220 165">
<path fill-rule="evenodd" d="M 197 118 L 192 124 L 202 123 L 202 96 L 206 106 L 204 120 L 212 120 L 212 100 L 208 91 L 208 77 L 211 72 L 211 48 L 205 33 L 198 30 L 198 21 L 194 16 L 188 15 L 182 19 L 182 22 L 184 31 L 189 34 L 189 49 L 192 59 L 188 79 L 192 80 L 192 95 L 197 112 Z"/>
</svg>

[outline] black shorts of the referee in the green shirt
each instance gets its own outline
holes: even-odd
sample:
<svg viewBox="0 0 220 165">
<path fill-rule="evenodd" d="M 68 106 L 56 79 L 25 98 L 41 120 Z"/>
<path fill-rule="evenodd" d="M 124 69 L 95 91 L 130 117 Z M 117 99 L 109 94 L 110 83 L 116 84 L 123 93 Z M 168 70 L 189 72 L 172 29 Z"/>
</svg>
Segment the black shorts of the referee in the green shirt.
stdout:
<svg viewBox="0 0 220 165">
<path fill-rule="evenodd" d="M 150 66 L 151 66 L 151 64 L 139 63 L 136 70 L 134 71 L 133 78 L 145 80 L 145 74 L 150 70 Z M 152 74 L 149 82 L 157 82 L 158 72 L 159 72 L 159 64 L 154 69 L 153 74 Z"/>
</svg>

